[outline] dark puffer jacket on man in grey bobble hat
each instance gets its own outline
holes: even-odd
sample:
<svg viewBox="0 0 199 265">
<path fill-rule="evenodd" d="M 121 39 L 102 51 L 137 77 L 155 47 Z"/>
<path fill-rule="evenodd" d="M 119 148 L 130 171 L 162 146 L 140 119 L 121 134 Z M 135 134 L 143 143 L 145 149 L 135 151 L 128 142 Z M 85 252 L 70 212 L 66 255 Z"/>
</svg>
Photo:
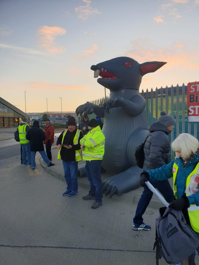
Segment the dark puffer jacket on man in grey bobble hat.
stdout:
<svg viewBox="0 0 199 265">
<path fill-rule="evenodd" d="M 144 144 L 144 170 L 159 168 L 168 164 L 170 159 L 169 130 L 161 123 L 152 123 L 150 134 Z"/>
</svg>

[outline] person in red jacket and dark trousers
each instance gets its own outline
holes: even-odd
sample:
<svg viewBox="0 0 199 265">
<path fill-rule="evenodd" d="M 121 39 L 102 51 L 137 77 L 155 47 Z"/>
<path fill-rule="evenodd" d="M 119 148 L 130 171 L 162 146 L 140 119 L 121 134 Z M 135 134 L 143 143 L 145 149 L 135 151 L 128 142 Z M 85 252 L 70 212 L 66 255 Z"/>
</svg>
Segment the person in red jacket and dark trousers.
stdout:
<svg viewBox="0 0 199 265">
<path fill-rule="evenodd" d="M 51 146 L 54 142 L 55 131 L 54 131 L 53 123 L 49 119 L 45 120 L 44 129 L 45 129 L 46 138 L 43 143 L 46 146 L 46 154 L 48 156 L 48 159 L 51 161 L 52 160 Z"/>
</svg>

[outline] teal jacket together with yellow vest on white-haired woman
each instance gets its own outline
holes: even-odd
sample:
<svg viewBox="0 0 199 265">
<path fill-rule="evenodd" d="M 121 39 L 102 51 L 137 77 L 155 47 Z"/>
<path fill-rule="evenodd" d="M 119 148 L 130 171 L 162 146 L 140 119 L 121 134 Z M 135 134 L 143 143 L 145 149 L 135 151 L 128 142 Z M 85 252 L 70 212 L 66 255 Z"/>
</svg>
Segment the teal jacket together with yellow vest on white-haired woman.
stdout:
<svg viewBox="0 0 199 265">
<path fill-rule="evenodd" d="M 181 198 L 185 194 L 185 190 L 190 182 L 190 177 L 196 172 L 199 166 L 199 154 L 191 158 L 185 167 L 183 167 L 182 158 L 175 158 L 169 164 L 160 168 L 147 170 L 151 180 L 165 180 L 174 177 L 174 196 Z M 188 216 L 194 231 L 199 232 L 199 192 L 187 196 L 190 207 L 188 208 Z"/>
</svg>

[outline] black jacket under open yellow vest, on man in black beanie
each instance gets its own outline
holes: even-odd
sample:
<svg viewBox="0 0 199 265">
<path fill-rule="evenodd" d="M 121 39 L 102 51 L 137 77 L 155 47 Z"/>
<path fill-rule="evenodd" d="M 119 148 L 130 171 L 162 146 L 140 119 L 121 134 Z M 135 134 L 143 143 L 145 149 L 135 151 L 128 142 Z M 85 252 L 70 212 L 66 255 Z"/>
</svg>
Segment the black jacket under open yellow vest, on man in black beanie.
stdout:
<svg viewBox="0 0 199 265">
<path fill-rule="evenodd" d="M 75 161 L 75 150 L 79 150 L 81 144 L 79 143 L 80 139 L 83 137 L 82 132 L 79 133 L 79 140 L 78 144 L 73 143 L 73 139 L 75 137 L 75 134 L 77 132 L 77 129 L 73 131 L 72 133 L 68 130 L 63 138 L 64 131 L 59 135 L 57 139 L 57 145 L 61 144 L 62 138 L 63 138 L 63 144 L 68 144 L 72 146 L 72 149 L 67 149 L 64 146 L 61 147 L 60 155 L 61 160 L 64 161 Z"/>
</svg>

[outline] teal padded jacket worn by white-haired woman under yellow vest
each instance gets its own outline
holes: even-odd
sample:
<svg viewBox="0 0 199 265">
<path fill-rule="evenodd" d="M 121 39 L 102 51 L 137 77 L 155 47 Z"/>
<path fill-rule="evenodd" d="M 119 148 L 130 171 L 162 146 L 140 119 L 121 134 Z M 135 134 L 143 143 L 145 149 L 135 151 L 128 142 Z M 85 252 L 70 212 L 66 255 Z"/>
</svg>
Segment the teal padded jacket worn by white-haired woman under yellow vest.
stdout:
<svg viewBox="0 0 199 265">
<path fill-rule="evenodd" d="M 198 162 L 199 162 L 199 153 L 197 154 L 196 157 L 191 158 L 189 162 L 186 164 L 185 168 L 183 168 L 182 158 L 176 157 L 169 164 L 161 166 L 160 168 L 147 170 L 147 173 L 149 174 L 151 180 L 165 180 L 168 178 L 172 178 L 173 164 L 176 163 L 178 165 L 178 173 L 176 176 L 176 187 L 177 187 L 178 198 L 181 198 L 182 195 L 185 195 L 186 179 L 189 176 L 189 174 L 194 170 Z M 199 192 L 190 195 L 187 198 L 190 204 L 196 204 L 196 206 L 199 206 Z"/>
</svg>

